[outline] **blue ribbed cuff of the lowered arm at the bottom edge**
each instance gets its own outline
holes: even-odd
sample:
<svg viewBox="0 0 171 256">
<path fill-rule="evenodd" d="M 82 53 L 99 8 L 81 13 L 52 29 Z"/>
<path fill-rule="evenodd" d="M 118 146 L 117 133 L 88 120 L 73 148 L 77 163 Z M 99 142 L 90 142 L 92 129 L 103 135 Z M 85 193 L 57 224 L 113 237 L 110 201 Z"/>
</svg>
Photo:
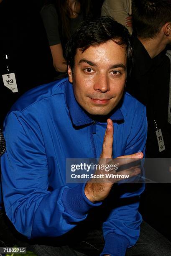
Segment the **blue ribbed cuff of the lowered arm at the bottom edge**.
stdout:
<svg viewBox="0 0 171 256">
<path fill-rule="evenodd" d="M 110 256 L 125 256 L 129 244 L 128 239 L 124 236 L 108 233 L 105 238 L 105 247 L 100 256 L 105 254 Z"/>
</svg>

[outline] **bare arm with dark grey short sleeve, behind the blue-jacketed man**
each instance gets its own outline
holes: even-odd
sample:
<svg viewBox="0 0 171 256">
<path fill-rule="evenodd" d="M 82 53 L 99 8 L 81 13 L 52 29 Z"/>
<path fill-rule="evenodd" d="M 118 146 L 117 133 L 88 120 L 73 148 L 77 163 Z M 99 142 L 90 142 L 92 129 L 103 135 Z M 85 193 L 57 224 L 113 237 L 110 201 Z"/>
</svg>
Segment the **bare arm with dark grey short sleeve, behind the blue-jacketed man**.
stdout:
<svg viewBox="0 0 171 256">
<path fill-rule="evenodd" d="M 54 5 L 45 5 L 41 10 L 41 17 L 46 29 L 54 68 L 57 72 L 66 72 L 67 66 L 59 36 L 58 15 Z"/>
</svg>

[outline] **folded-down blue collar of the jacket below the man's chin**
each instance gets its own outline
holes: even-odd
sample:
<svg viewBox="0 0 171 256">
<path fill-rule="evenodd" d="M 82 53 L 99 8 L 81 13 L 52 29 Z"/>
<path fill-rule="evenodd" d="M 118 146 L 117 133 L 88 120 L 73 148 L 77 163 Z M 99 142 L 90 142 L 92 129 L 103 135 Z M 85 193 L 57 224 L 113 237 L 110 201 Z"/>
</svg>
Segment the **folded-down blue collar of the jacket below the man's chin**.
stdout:
<svg viewBox="0 0 171 256">
<path fill-rule="evenodd" d="M 76 101 L 72 84 L 68 81 L 68 79 L 65 87 L 65 98 L 71 121 L 75 126 L 87 125 L 94 122 L 93 116 L 89 115 Z M 123 120 L 124 116 L 120 108 L 116 108 L 115 111 L 110 113 L 107 118 L 111 118 L 113 121 Z"/>
</svg>

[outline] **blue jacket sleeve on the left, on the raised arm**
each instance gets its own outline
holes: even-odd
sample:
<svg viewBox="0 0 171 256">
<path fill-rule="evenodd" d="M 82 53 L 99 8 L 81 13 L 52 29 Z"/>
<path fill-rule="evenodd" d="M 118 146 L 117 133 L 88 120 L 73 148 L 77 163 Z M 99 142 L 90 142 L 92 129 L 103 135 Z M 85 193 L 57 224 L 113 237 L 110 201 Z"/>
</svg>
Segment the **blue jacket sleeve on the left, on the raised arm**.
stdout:
<svg viewBox="0 0 171 256">
<path fill-rule="evenodd" d="M 84 220 L 90 208 L 101 204 L 87 199 L 84 184 L 48 191 L 48 162 L 36 122 L 12 112 L 4 135 L 3 201 L 8 218 L 20 233 L 28 238 L 61 236 Z"/>
</svg>

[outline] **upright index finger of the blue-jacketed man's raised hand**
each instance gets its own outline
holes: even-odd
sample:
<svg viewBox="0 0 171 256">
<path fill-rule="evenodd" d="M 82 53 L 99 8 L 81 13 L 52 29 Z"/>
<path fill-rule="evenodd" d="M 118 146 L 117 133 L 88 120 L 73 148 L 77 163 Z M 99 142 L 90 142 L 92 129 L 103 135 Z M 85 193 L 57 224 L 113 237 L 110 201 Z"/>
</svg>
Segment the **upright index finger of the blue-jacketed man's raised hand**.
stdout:
<svg viewBox="0 0 171 256">
<path fill-rule="evenodd" d="M 107 119 L 107 128 L 102 147 L 102 158 L 112 158 L 112 146 L 113 146 L 113 122 L 111 119 Z"/>
</svg>

